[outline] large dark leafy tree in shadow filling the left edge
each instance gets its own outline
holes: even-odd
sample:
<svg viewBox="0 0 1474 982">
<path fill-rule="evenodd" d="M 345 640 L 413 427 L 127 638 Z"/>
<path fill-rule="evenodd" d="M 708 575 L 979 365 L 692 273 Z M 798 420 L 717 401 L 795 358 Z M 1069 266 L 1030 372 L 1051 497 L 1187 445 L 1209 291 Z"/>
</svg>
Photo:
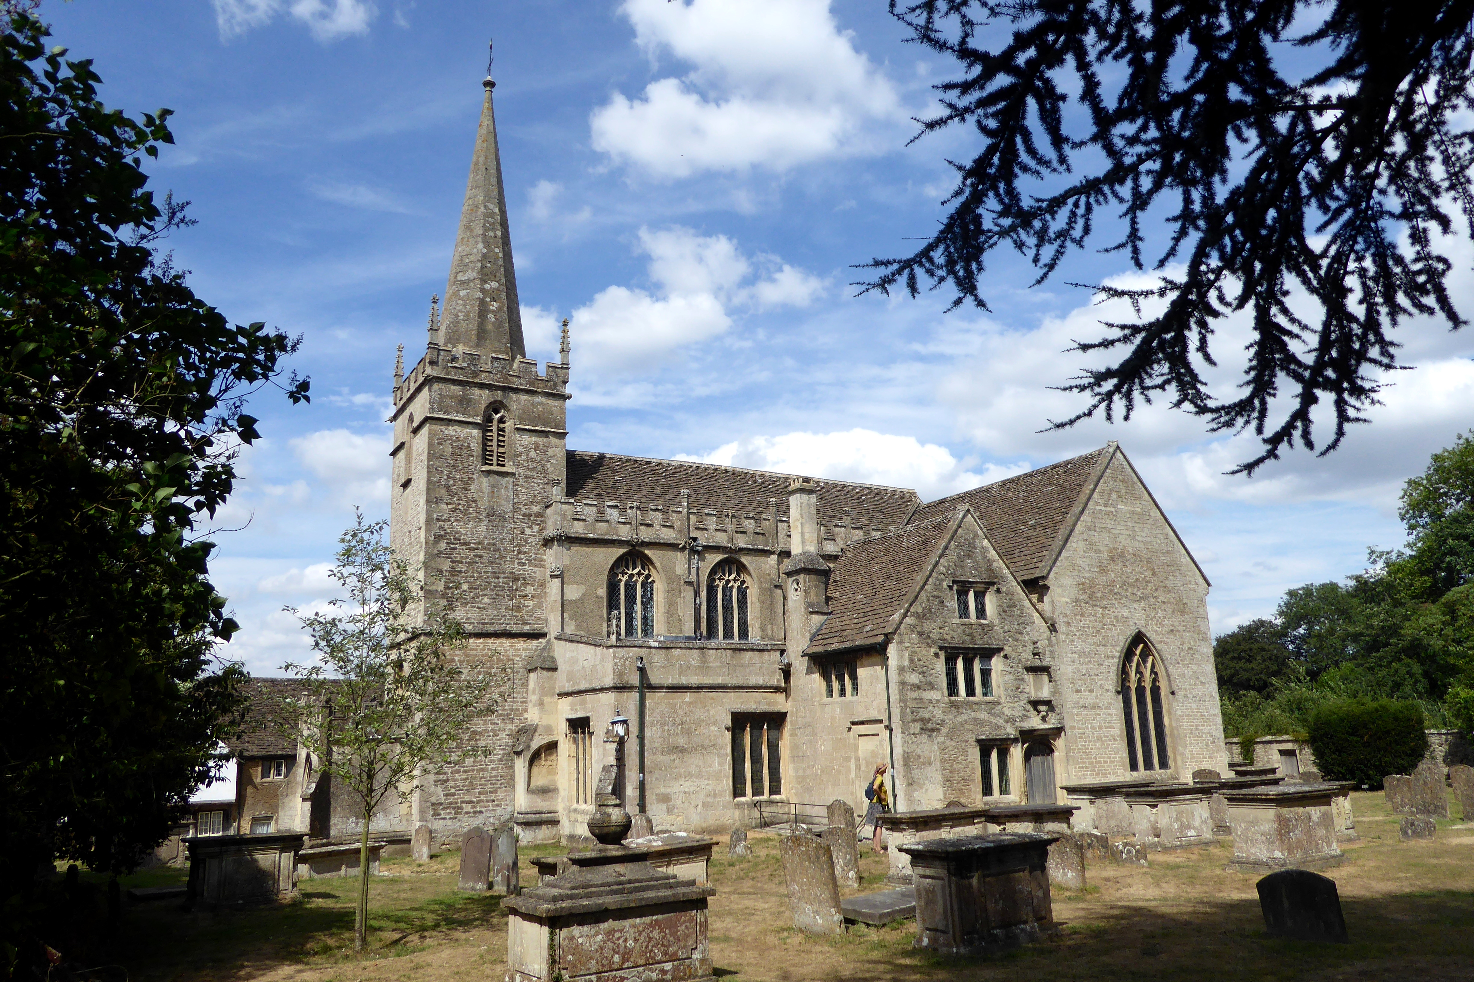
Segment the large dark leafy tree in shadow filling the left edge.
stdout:
<svg viewBox="0 0 1474 982">
<path fill-rule="evenodd" d="M 130 869 L 208 774 L 236 708 L 236 630 L 198 523 L 256 437 L 245 399 L 295 349 L 233 327 L 153 246 L 171 143 L 97 99 L 88 60 L 0 24 L 0 902 L 13 960 L 38 863 Z M 307 381 L 287 395 L 305 400 Z"/>
</svg>

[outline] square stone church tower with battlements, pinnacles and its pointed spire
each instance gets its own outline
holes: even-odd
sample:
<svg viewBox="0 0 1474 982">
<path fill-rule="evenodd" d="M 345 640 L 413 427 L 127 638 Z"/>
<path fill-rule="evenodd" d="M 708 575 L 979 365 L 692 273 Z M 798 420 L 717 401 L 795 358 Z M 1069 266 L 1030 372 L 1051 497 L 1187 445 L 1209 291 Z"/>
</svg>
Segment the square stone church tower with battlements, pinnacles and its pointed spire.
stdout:
<svg viewBox="0 0 1474 982">
<path fill-rule="evenodd" d="M 430 302 L 425 356 L 394 378 L 391 542 L 427 605 L 466 626 L 464 657 L 510 668 L 470 743 L 486 754 L 417 796 L 438 829 L 504 822 L 513 808 L 513 732 L 526 716 L 528 658 L 547 639 L 544 508 L 566 476 L 567 343 L 545 372 L 526 356 L 501 181 L 495 82 L 485 97 L 444 309 Z"/>
</svg>

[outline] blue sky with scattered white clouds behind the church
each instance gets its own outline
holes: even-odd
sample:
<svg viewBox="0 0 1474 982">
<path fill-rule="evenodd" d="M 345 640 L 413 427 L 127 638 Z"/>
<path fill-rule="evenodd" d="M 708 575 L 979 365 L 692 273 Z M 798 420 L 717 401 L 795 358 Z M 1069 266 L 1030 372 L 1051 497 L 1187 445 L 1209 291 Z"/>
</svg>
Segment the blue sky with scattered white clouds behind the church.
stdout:
<svg viewBox="0 0 1474 982">
<path fill-rule="evenodd" d="M 949 66 L 883 0 L 47 0 L 103 99 L 175 110 L 153 187 L 199 225 L 168 247 L 239 322 L 304 336 L 312 405 L 265 395 L 265 434 L 212 565 L 271 673 L 304 652 L 286 604 L 324 577 L 354 505 L 386 511 L 395 345 L 413 364 L 442 293 L 495 37 L 497 122 L 529 355 L 573 318 L 569 446 L 873 480 L 936 498 L 1114 439 L 1209 577 L 1215 633 L 1284 589 L 1402 540 L 1400 481 L 1474 423 L 1474 334 L 1412 324 L 1375 425 L 1251 480 L 1251 437 L 1160 406 L 1129 424 L 1055 392 L 1100 333 L 1069 281 L 1132 280 L 1083 253 L 1041 287 L 999 256 L 991 314 L 856 297 L 852 264 L 924 236 L 965 133 L 907 147 Z M 1455 293 L 1474 309 L 1474 250 Z M 1223 334 L 1232 381 L 1241 325 Z M 1225 389 L 1226 392 L 1226 389 Z"/>
</svg>

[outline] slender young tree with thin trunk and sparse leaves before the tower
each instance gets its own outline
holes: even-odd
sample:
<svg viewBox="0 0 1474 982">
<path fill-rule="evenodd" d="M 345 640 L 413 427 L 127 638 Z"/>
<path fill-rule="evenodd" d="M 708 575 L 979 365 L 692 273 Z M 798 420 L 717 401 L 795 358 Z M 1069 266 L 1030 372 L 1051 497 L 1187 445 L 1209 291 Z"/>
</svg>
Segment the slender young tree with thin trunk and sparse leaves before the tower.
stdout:
<svg viewBox="0 0 1474 982">
<path fill-rule="evenodd" d="M 453 660 L 464 632 L 442 611 L 425 611 L 411 570 L 383 540 L 388 523 L 357 523 L 340 537 L 329 574 L 346 593 L 332 612 L 298 614 L 312 636 L 312 664 L 287 664 L 307 698 L 289 707 L 287 727 L 335 783 L 360 804 L 358 908 L 354 948 L 368 929 L 368 824 L 391 794 L 401 799 L 420 776 L 470 751 L 461 746 L 478 716 L 495 714 L 506 673 L 467 671 Z M 324 707 L 327 707 L 324 710 Z"/>
</svg>

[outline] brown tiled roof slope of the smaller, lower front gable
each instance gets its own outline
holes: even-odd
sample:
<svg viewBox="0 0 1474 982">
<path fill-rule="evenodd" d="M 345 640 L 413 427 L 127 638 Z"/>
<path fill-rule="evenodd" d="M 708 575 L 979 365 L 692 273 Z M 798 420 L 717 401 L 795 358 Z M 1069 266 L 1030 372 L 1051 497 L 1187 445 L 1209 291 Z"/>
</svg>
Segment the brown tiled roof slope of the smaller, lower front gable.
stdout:
<svg viewBox="0 0 1474 982">
<path fill-rule="evenodd" d="M 806 652 L 880 643 L 954 517 L 943 512 L 845 546 L 830 574 L 830 615 Z"/>
</svg>

